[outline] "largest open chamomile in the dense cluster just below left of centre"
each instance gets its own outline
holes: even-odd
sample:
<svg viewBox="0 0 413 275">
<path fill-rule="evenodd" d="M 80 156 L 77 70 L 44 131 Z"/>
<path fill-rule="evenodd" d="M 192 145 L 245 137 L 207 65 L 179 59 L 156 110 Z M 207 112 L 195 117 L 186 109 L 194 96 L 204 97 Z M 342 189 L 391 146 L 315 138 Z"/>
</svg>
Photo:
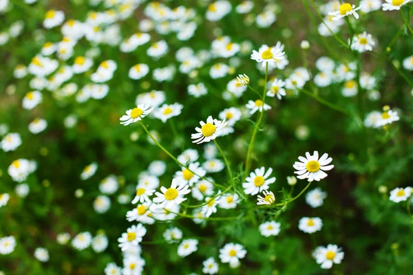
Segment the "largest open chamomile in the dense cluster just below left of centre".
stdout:
<svg viewBox="0 0 413 275">
<path fill-rule="evenodd" d="M 160 208 L 169 207 L 171 205 L 178 205 L 182 201 L 186 201 L 187 198 L 184 195 L 187 195 L 191 192 L 187 183 L 181 183 L 178 179 L 172 179 L 171 187 L 165 188 L 164 186 L 160 187 L 160 192 L 156 192 L 156 198 L 153 198 L 153 202 L 160 203 Z"/>
</svg>

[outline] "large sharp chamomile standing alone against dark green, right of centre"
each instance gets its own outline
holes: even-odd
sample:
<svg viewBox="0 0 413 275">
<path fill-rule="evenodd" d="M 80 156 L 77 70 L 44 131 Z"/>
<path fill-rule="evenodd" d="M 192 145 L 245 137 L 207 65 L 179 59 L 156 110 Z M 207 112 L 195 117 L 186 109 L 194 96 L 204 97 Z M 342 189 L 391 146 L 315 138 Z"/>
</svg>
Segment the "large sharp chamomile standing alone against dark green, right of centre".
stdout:
<svg viewBox="0 0 413 275">
<path fill-rule="evenodd" d="M 293 167 L 295 168 L 294 173 L 297 174 L 299 179 L 308 179 L 308 181 L 320 181 L 327 177 L 324 171 L 331 170 L 334 165 L 328 165 L 332 162 L 332 158 L 328 157 L 327 153 L 324 153 L 319 158 L 318 151 L 314 151 L 313 155 L 306 152 L 306 157 L 298 157 L 300 162 L 295 162 Z"/>
</svg>

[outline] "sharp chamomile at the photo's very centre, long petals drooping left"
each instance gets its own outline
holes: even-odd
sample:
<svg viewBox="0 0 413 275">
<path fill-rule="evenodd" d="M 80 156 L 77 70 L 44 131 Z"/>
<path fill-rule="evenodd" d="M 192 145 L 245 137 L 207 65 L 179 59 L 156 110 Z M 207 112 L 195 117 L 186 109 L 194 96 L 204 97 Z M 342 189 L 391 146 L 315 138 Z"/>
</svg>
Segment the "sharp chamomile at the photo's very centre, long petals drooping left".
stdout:
<svg viewBox="0 0 413 275">
<path fill-rule="evenodd" d="M 207 123 L 200 121 L 201 128 L 196 127 L 195 131 L 198 133 L 193 133 L 191 139 L 193 143 L 201 144 L 202 142 L 210 142 L 215 140 L 216 137 L 220 135 L 220 131 L 226 126 L 227 122 L 225 120 L 213 119 L 211 115 L 207 118 Z"/>
</svg>

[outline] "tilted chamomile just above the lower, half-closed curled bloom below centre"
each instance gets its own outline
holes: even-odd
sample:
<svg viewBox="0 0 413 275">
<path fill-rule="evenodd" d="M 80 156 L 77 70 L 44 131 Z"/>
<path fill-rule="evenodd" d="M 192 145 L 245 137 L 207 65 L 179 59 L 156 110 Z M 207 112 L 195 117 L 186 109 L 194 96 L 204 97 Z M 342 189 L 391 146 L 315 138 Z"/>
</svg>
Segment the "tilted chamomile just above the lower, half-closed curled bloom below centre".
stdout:
<svg viewBox="0 0 413 275">
<path fill-rule="evenodd" d="M 275 182 L 275 177 L 270 177 L 271 173 L 273 173 L 273 168 L 268 168 L 266 172 L 264 166 L 255 169 L 254 172 L 251 172 L 250 175 L 246 177 L 246 182 L 242 184 L 244 193 L 246 195 L 257 195 L 259 192 L 262 192 L 262 190 L 267 190 L 270 184 Z"/>
</svg>

